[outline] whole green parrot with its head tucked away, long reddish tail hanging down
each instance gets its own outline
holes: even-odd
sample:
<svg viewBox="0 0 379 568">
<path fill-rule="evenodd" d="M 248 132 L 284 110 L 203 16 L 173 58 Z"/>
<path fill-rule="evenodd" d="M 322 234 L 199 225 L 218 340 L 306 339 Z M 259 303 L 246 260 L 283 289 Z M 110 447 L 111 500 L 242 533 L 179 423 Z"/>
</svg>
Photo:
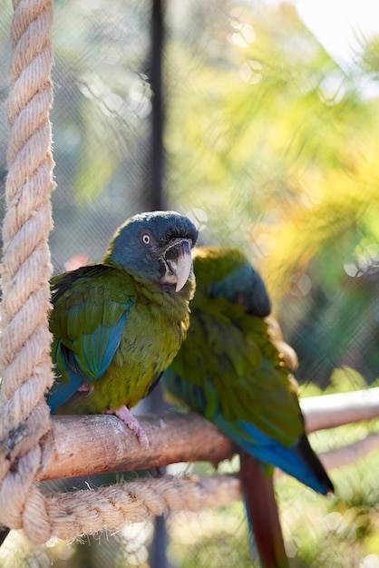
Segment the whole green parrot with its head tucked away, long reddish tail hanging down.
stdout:
<svg viewBox="0 0 379 568">
<path fill-rule="evenodd" d="M 171 400 L 205 416 L 238 448 L 253 558 L 262 568 L 287 568 L 274 467 L 320 494 L 334 491 L 306 436 L 292 374 L 296 353 L 241 250 L 197 247 L 192 259 L 190 328 L 163 384 Z"/>
</svg>

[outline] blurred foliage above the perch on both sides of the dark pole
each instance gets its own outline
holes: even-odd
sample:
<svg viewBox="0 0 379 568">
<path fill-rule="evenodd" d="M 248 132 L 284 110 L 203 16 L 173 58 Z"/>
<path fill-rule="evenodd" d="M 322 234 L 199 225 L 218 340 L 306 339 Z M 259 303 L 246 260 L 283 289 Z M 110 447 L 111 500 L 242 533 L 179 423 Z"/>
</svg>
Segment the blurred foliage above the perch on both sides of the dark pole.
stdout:
<svg viewBox="0 0 379 568">
<path fill-rule="evenodd" d="M 101 260 L 114 228 L 150 209 L 150 17 L 147 1 L 55 3 L 57 271 L 78 252 Z M 301 383 L 325 387 L 343 365 L 372 382 L 379 102 L 366 83 L 377 83 L 378 38 L 362 37 L 342 67 L 286 3 L 168 2 L 166 23 L 170 207 L 201 241 L 238 245 L 258 265 Z M 5 148 L 5 83 L 0 93 Z"/>
</svg>

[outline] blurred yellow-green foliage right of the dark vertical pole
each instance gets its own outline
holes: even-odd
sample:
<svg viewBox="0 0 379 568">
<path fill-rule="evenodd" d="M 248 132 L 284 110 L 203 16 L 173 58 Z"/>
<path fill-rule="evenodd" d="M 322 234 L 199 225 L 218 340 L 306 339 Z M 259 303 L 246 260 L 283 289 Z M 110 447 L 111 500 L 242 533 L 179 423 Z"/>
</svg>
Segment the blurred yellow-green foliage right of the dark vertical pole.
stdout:
<svg viewBox="0 0 379 568">
<path fill-rule="evenodd" d="M 300 382 L 325 387 L 343 365 L 371 382 L 379 101 L 362 85 L 377 81 L 379 42 L 343 68 L 292 5 L 218 5 L 190 3 L 190 36 L 171 8 L 171 201 L 192 208 L 202 240 L 238 244 L 258 265 Z"/>
</svg>

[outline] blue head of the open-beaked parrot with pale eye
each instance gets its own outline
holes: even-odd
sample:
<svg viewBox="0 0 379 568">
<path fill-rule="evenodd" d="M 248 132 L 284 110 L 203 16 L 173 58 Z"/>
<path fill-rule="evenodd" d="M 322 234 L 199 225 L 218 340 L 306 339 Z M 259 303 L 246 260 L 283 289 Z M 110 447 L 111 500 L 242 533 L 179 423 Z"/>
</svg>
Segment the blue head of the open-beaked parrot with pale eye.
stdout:
<svg viewBox="0 0 379 568">
<path fill-rule="evenodd" d="M 140 213 L 116 231 L 103 262 L 178 292 L 190 278 L 197 238 L 195 225 L 175 211 Z"/>
</svg>

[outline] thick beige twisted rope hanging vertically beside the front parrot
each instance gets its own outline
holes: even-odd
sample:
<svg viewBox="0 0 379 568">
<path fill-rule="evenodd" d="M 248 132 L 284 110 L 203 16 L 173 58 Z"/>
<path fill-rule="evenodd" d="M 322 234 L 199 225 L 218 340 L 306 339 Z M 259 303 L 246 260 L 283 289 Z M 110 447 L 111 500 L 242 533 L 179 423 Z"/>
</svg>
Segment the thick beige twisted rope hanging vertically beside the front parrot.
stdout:
<svg viewBox="0 0 379 568">
<path fill-rule="evenodd" d="M 14 8 L 1 266 L 0 522 L 24 527 L 35 540 L 35 512 L 43 500 L 34 484 L 41 461 L 38 443 L 50 427 L 44 391 L 53 384 L 47 326 L 52 274 L 47 240 L 54 187 L 49 122 L 53 2 L 14 1 Z M 47 534 L 44 523 L 40 525 Z"/>
</svg>

